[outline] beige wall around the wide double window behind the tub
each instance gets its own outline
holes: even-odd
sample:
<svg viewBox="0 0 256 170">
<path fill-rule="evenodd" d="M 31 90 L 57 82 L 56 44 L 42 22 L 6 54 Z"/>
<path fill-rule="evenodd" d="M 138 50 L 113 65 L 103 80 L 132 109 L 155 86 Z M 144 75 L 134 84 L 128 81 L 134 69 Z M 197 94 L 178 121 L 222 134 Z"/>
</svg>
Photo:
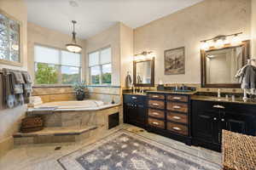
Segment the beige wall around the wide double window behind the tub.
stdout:
<svg viewBox="0 0 256 170">
<path fill-rule="evenodd" d="M 70 32 L 71 34 L 71 32 Z M 66 44 L 71 42 L 71 35 L 63 34 L 60 31 L 50 30 L 42 26 L 35 25 L 33 23 L 27 24 L 27 42 L 28 42 L 28 71 L 34 77 L 34 44 L 41 44 L 52 48 L 66 49 Z M 82 54 L 82 67 L 85 65 L 85 41 L 77 39 L 79 45 L 83 47 Z M 82 77 L 85 77 L 84 71 L 82 71 Z"/>
</svg>

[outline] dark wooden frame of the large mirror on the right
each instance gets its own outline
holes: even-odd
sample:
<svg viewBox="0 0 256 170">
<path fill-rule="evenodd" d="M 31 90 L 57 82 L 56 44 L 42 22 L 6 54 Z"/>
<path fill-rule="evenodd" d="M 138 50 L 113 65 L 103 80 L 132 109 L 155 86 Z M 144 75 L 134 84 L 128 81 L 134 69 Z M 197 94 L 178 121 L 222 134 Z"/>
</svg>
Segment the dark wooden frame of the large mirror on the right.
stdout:
<svg viewBox="0 0 256 170">
<path fill-rule="evenodd" d="M 250 40 L 242 41 L 241 45 L 232 46 L 230 44 L 224 45 L 224 48 L 210 48 L 209 50 L 201 49 L 201 88 L 241 88 L 240 83 L 207 83 L 207 63 L 206 63 L 206 54 L 207 52 L 217 51 L 220 49 L 227 48 L 242 48 L 242 65 L 247 63 L 250 55 Z"/>
</svg>

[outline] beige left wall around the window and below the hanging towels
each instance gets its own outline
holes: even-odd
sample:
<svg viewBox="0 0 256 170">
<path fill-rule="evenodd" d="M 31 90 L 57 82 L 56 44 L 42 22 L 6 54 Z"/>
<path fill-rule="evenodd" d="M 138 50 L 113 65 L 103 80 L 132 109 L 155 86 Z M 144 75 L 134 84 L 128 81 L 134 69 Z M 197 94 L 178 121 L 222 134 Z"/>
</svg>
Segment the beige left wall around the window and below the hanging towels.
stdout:
<svg viewBox="0 0 256 170">
<path fill-rule="evenodd" d="M 25 70 L 27 68 L 27 52 L 26 52 L 26 25 L 27 25 L 27 12 L 26 3 L 23 0 L 0 0 L 0 8 L 5 13 L 20 20 L 21 26 L 21 45 L 23 66 L 15 67 L 10 65 L 0 64 L 0 68 L 8 67 L 15 70 Z M 17 132 L 19 128 L 20 119 L 25 115 L 26 105 L 16 107 L 15 109 L 8 109 L 0 111 L 0 156 L 7 150 L 13 147 L 12 134 Z"/>
</svg>

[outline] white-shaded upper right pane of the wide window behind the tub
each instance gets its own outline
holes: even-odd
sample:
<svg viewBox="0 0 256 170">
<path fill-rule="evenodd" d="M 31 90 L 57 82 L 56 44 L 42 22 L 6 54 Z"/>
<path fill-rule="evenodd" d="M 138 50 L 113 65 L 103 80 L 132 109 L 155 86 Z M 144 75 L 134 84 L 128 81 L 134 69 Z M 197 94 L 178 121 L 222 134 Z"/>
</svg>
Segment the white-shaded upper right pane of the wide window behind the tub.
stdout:
<svg viewBox="0 0 256 170">
<path fill-rule="evenodd" d="M 80 54 L 61 51 L 61 65 L 80 66 Z"/>
</svg>

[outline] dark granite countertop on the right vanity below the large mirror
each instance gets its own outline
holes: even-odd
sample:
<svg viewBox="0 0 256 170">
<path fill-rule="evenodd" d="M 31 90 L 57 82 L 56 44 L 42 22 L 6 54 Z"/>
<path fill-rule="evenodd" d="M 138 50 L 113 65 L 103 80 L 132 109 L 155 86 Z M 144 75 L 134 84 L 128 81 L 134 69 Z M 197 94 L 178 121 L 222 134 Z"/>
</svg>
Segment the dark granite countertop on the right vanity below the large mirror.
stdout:
<svg viewBox="0 0 256 170">
<path fill-rule="evenodd" d="M 217 101 L 224 103 L 237 103 L 237 104 L 245 104 L 245 105 L 256 105 L 256 101 L 247 100 L 243 101 L 241 98 L 236 98 L 235 100 L 225 99 L 225 98 L 217 98 L 215 96 L 202 96 L 202 95 L 192 95 L 192 100 L 202 100 L 202 101 Z"/>
</svg>

